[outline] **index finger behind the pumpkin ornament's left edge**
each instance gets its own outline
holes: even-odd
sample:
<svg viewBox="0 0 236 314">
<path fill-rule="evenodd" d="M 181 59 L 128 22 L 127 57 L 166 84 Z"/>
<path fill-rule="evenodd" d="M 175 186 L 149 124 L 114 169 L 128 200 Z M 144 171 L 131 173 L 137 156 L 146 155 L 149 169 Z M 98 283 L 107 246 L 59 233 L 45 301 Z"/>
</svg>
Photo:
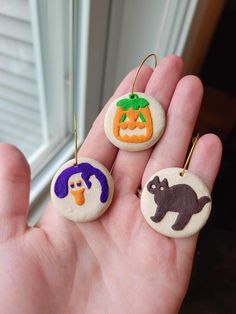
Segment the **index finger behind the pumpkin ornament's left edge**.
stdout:
<svg viewBox="0 0 236 314">
<path fill-rule="evenodd" d="M 132 82 L 136 70 L 131 71 L 126 78 L 121 82 L 120 86 L 117 88 L 114 96 L 109 100 L 107 105 L 103 108 L 102 112 L 99 114 L 97 119 L 95 120 L 91 131 L 89 132 L 85 142 L 79 150 L 79 157 L 90 157 L 92 159 L 96 159 L 101 162 L 106 168 L 111 169 L 114 160 L 116 158 L 118 149 L 110 143 L 107 139 L 103 121 L 106 110 L 111 102 L 120 97 L 123 94 L 128 93 L 131 90 Z M 152 73 L 152 70 L 149 67 L 143 67 L 140 71 L 139 80 L 136 84 L 136 89 L 138 91 L 143 91 L 147 81 Z"/>
</svg>

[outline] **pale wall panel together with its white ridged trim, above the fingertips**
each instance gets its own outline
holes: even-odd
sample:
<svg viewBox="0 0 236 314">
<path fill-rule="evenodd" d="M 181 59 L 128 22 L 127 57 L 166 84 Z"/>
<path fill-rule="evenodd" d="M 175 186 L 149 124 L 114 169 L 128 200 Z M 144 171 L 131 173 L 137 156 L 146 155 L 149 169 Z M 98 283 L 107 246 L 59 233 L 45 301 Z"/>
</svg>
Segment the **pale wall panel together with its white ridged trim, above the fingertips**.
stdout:
<svg viewBox="0 0 236 314">
<path fill-rule="evenodd" d="M 103 101 L 149 53 L 182 55 L 199 0 L 113 0 Z M 153 61 L 151 60 L 151 64 Z"/>
</svg>

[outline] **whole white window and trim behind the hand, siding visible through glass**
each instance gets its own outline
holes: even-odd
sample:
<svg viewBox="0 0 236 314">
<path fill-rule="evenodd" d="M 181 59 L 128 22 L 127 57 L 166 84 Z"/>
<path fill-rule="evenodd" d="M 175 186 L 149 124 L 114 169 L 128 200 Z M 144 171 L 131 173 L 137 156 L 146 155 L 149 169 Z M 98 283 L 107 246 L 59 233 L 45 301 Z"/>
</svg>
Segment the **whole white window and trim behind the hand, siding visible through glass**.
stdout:
<svg viewBox="0 0 236 314">
<path fill-rule="evenodd" d="M 26 155 L 31 201 L 73 155 L 73 111 L 80 144 L 145 54 L 182 54 L 197 3 L 0 1 L 0 142 Z"/>
</svg>

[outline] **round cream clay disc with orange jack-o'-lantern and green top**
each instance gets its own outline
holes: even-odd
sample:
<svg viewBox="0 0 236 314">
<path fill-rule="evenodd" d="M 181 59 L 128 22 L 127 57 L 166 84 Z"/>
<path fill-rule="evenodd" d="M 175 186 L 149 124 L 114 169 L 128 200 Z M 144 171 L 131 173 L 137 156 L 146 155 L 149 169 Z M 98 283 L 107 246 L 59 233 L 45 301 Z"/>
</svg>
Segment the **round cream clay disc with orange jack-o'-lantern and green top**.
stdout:
<svg viewBox="0 0 236 314">
<path fill-rule="evenodd" d="M 127 151 L 140 151 L 153 146 L 164 127 L 162 106 L 153 97 L 138 92 L 114 100 L 104 119 L 107 138 Z"/>
</svg>

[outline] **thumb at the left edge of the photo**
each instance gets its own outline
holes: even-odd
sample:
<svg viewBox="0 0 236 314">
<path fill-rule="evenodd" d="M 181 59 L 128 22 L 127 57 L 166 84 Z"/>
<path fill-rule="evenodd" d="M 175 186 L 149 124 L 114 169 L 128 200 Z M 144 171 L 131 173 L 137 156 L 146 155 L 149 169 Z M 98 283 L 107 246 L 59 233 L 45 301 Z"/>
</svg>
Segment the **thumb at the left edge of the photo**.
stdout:
<svg viewBox="0 0 236 314">
<path fill-rule="evenodd" d="M 29 205 L 30 170 L 22 153 L 0 144 L 0 242 L 23 233 Z"/>
</svg>

